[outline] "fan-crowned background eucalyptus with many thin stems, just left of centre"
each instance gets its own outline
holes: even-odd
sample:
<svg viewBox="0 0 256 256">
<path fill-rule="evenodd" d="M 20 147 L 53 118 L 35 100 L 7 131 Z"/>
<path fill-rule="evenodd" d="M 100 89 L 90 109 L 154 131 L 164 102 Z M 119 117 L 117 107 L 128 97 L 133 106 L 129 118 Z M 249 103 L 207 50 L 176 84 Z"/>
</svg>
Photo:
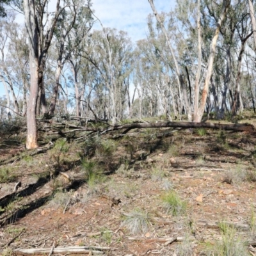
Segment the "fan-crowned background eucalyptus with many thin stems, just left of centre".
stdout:
<svg viewBox="0 0 256 256">
<path fill-rule="evenodd" d="M 127 33 L 110 28 L 93 31 L 90 41 L 93 47 L 84 51 L 84 55 L 97 68 L 104 81 L 104 90 L 109 97 L 108 119 L 115 125 L 122 118 L 122 94 L 127 92 L 124 90 L 125 79 L 133 68 L 132 43 Z"/>
</svg>

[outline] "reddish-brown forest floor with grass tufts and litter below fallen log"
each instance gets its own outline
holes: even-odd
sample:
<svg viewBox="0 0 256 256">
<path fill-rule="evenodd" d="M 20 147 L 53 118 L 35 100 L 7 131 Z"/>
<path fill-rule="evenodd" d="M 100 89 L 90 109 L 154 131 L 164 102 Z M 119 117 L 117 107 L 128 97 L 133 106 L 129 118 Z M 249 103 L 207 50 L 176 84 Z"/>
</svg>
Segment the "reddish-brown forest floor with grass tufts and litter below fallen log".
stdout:
<svg viewBox="0 0 256 256">
<path fill-rule="evenodd" d="M 256 116 L 244 122 L 256 126 Z M 256 135 L 170 131 L 52 141 L 41 132 L 40 150 L 26 150 L 20 134 L 2 138 L 1 255 L 53 245 L 92 246 L 90 255 L 256 255 Z"/>
</svg>

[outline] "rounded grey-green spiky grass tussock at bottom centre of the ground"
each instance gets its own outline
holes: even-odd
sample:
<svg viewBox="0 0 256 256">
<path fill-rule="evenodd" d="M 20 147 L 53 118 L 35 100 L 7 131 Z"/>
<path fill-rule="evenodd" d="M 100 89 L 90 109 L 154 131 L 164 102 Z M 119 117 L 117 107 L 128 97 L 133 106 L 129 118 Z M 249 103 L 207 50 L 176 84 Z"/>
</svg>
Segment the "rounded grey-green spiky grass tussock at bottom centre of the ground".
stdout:
<svg viewBox="0 0 256 256">
<path fill-rule="evenodd" d="M 131 234 L 147 232 L 148 227 L 152 224 L 152 218 L 148 212 L 143 212 L 136 208 L 129 214 L 122 216 L 121 227 L 127 228 Z"/>
</svg>

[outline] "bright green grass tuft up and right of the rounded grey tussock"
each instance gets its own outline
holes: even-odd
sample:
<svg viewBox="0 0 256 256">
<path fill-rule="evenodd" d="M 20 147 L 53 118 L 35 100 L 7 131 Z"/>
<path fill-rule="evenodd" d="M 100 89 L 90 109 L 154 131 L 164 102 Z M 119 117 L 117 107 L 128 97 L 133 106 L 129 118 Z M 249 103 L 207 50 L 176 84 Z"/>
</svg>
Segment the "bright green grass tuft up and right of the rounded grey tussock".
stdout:
<svg viewBox="0 0 256 256">
<path fill-rule="evenodd" d="M 186 202 L 182 201 L 174 190 L 167 192 L 162 199 L 164 208 L 173 216 L 180 216 L 186 212 Z"/>
</svg>

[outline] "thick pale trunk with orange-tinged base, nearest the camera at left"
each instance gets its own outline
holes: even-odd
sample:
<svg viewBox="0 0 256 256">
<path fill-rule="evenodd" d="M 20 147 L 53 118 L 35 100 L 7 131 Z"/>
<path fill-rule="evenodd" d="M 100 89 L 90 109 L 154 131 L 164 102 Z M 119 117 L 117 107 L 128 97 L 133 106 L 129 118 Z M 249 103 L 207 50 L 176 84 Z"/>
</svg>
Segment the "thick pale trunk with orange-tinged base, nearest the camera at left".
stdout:
<svg viewBox="0 0 256 256">
<path fill-rule="evenodd" d="M 36 148 L 36 100 L 38 97 L 38 33 L 36 30 L 35 0 L 24 0 L 25 25 L 28 31 L 30 95 L 27 111 L 27 141 L 26 148 Z"/>
</svg>

